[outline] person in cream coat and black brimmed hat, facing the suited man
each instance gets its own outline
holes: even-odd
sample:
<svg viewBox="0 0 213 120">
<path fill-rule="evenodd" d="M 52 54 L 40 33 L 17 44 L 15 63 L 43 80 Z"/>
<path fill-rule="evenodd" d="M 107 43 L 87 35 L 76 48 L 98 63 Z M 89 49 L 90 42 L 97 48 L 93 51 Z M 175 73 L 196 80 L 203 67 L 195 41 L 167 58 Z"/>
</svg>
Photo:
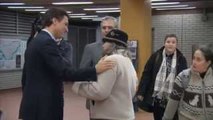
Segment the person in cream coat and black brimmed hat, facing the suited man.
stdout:
<svg viewBox="0 0 213 120">
<path fill-rule="evenodd" d="M 137 75 L 127 49 L 128 35 L 113 29 L 103 38 L 105 59 L 117 64 L 98 75 L 92 83 L 74 83 L 72 89 L 80 96 L 92 99 L 92 120 L 134 120 L 132 98 L 136 92 Z"/>
</svg>

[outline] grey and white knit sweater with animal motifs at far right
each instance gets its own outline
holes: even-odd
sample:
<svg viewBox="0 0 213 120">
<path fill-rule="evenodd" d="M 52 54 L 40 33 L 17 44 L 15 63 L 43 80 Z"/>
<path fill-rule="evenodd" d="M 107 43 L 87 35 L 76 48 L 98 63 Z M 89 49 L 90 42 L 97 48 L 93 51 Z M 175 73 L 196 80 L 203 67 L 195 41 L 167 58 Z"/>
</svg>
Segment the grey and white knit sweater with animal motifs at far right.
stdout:
<svg viewBox="0 0 213 120">
<path fill-rule="evenodd" d="M 170 99 L 179 104 L 180 120 L 213 120 L 212 68 L 208 69 L 203 79 L 191 68 L 181 72 L 175 80 Z"/>
</svg>

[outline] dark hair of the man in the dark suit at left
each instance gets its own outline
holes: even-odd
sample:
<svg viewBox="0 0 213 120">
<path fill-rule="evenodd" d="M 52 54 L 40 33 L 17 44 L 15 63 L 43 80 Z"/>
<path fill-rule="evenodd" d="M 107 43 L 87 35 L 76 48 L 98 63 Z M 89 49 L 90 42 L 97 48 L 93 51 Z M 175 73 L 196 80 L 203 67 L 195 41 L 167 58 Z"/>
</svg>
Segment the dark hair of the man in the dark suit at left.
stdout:
<svg viewBox="0 0 213 120">
<path fill-rule="evenodd" d="M 50 26 L 53 21 L 53 18 L 56 18 L 57 20 L 61 21 L 64 16 L 67 16 L 69 18 L 69 15 L 67 12 L 60 8 L 51 8 L 43 16 L 43 27 Z"/>
</svg>

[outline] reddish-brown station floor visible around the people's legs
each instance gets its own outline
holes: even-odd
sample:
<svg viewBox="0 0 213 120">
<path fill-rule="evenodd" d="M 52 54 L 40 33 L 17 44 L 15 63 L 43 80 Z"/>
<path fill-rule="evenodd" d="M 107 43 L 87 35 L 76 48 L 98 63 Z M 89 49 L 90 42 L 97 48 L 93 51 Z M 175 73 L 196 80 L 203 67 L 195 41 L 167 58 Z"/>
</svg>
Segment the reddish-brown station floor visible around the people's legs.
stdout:
<svg viewBox="0 0 213 120">
<path fill-rule="evenodd" d="M 85 98 L 73 94 L 68 83 L 64 89 L 64 120 L 88 120 Z M 4 120 L 18 120 L 20 100 L 20 88 L 0 91 L 0 109 L 3 111 Z M 152 114 L 140 111 L 136 113 L 136 120 L 153 120 L 153 118 Z"/>
</svg>

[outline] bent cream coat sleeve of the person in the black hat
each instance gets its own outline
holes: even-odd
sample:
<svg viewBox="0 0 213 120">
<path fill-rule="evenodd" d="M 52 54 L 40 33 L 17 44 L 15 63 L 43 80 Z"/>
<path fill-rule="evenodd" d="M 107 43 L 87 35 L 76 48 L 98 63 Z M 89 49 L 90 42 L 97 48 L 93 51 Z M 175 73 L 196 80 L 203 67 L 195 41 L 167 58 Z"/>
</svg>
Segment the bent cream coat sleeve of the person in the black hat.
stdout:
<svg viewBox="0 0 213 120">
<path fill-rule="evenodd" d="M 116 81 L 116 66 L 99 74 L 97 82 L 74 83 L 72 90 L 80 96 L 100 101 L 109 97 Z"/>
</svg>

